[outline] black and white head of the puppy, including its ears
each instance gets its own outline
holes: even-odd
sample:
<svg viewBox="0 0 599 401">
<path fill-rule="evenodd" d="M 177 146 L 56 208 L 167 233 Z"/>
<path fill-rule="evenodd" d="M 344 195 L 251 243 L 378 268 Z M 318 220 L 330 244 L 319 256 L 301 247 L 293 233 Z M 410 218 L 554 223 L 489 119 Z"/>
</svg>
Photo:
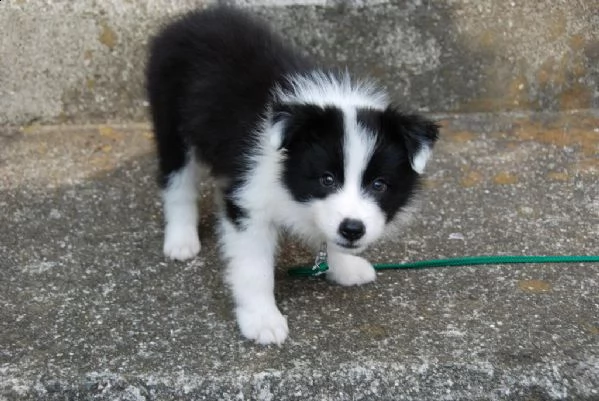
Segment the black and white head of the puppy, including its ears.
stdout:
<svg viewBox="0 0 599 401">
<path fill-rule="evenodd" d="M 282 182 L 319 237 L 345 252 L 378 239 L 408 206 L 438 127 L 393 107 L 282 104 Z M 316 233 L 315 233 L 316 234 Z"/>
</svg>

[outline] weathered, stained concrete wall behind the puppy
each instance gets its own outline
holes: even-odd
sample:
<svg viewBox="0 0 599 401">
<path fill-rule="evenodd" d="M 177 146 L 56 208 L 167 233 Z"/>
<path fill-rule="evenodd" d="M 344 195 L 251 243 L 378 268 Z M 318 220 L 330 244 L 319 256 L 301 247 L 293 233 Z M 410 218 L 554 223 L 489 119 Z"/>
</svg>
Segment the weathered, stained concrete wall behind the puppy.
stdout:
<svg viewBox="0 0 599 401">
<path fill-rule="evenodd" d="M 0 2 L 0 124 L 144 120 L 158 24 L 202 0 Z M 596 0 L 237 0 L 433 112 L 599 107 Z"/>
</svg>

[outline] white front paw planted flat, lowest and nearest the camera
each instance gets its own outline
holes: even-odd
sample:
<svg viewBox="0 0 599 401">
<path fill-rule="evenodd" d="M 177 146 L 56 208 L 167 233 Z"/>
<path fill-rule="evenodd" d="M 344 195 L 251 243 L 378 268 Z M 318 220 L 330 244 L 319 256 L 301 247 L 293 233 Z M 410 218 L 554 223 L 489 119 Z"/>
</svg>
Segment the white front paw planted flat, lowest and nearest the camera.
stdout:
<svg viewBox="0 0 599 401">
<path fill-rule="evenodd" d="M 287 338 L 287 319 L 274 305 L 266 308 L 237 307 L 236 313 L 241 333 L 249 340 L 262 345 L 280 345 Z"/>
</svg>

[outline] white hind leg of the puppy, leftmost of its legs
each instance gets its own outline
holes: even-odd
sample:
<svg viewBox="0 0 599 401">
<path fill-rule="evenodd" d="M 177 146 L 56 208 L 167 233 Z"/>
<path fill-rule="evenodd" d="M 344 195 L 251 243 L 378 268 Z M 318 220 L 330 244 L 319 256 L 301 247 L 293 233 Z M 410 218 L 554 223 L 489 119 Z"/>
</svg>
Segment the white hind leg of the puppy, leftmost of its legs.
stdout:
<svg viewBox="0 0 599 401">
<path fill-rule="evenodd" d="M 198 166 L 190 152 L 186 163 L 172 172 L 162 191 L 164 204 L 164 255 L 186 260 L 200 252 L 198 236 Z"/>
</svg>

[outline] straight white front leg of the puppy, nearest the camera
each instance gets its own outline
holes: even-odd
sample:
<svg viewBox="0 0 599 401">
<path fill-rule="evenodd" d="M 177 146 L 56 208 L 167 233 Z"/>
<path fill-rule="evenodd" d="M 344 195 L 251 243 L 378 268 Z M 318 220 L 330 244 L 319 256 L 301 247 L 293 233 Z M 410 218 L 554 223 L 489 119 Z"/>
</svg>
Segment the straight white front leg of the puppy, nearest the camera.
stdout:
<svg viewBox="0 0 599 401">
<path fill-rule="evenodd" d="M 226 277 L 235 299 L 237 323 L 250 340 L 282 344 L 289 330 L 274 297 L 276 230 L 251 219 L 244 223 L 235 225 L 226 218 L 221 222 L 223 250 L 229 261 Z"/>
</svg>

